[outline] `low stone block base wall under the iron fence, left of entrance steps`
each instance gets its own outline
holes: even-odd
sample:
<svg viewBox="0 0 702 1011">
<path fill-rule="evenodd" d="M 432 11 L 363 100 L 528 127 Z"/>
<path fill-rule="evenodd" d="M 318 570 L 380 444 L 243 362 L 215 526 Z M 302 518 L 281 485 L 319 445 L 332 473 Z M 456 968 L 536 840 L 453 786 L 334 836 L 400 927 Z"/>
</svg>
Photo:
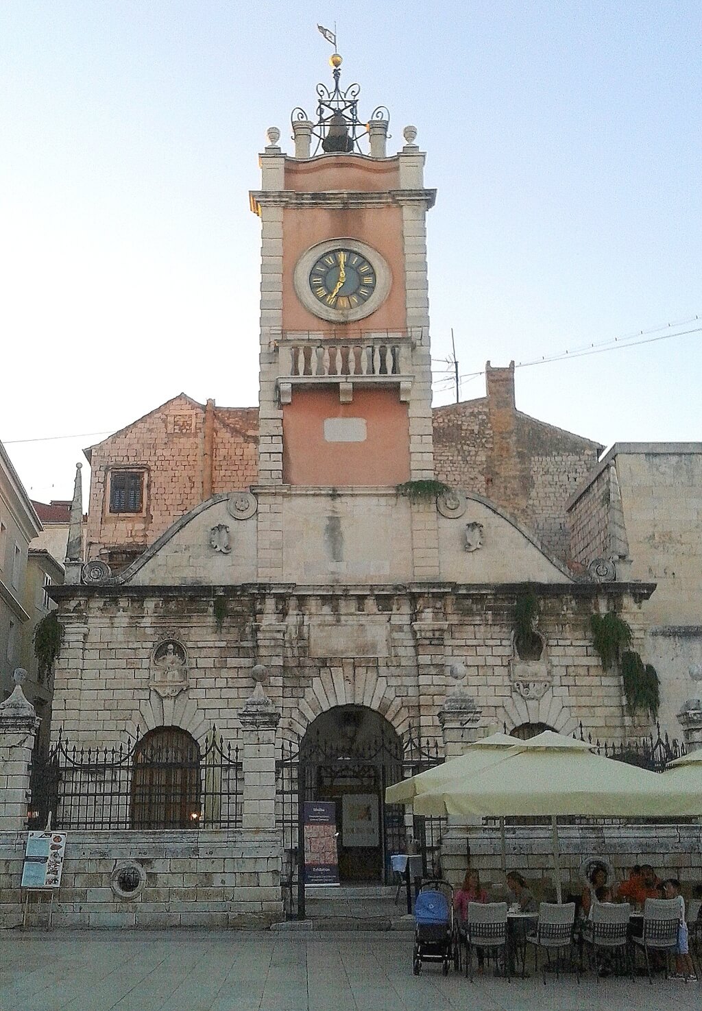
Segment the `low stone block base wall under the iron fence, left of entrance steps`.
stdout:
<svg viewBox="0 0 702 1011">
<path fill-rule="evenodd" d="M 25 832 L 0 832 L 0 927 L 22 921 L 25 843 Z M 111 884 L 126 864 L 137 864 L 145 879 L 133 897 L 116 894 Z M 66 927 L 267 926 L 283 919 L 280 865 L 275 832 L 70 832 L 54 922 Z"/>
</svg>

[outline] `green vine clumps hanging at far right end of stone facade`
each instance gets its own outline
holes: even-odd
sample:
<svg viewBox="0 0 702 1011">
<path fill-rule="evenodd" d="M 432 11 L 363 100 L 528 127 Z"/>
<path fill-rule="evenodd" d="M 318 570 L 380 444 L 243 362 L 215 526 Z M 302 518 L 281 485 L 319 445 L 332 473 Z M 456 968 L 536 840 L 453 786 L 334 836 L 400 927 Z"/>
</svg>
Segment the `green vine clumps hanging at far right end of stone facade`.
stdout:
<svg viewBox="0 0 702 1011">
<path fill-rule="evenodd" d="M 635 650 L 627 648 L 631 645 L 627 622 L 610 611 L 606 615 L 593 615 L 590 627 L 603 669 L 619 665 L 629 715 L 640 711 L 655 719 L 661 706 L 659 675 L 652 663 L 644 663 Z"/>
</svg>

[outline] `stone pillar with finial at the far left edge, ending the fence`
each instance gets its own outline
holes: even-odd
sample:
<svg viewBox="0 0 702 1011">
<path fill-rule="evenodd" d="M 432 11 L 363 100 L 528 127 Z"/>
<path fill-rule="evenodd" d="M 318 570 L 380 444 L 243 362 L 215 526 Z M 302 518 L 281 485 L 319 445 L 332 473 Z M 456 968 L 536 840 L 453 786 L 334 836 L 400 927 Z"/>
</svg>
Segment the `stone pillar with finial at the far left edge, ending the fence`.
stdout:
<svg viewBox="0 0 702 1011">
<path fill-rule="evenodd" d="M 22 692 L 26 670 L 14 672 L 14 692 L 0 704 L 0 831 L 26 828 L 29 766 L 39 720 Z"/>
</svg>

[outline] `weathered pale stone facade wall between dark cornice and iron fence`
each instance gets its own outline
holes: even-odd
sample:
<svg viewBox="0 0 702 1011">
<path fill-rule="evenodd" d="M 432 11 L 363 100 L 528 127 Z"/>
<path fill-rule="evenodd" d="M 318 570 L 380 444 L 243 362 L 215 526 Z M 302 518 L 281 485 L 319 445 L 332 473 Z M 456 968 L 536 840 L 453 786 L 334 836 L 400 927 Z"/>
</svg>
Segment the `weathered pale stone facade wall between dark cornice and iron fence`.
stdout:
<svg viewBox="0 0 702 1011">
<path fill-rule="evenodd" d="M 63 587 L 53 733 L 62 728 L 79 745 L 111 744 L 165 725 L 201 741 L 216 724 L 234 739 L 257 662 L 269 669 L 267 694 L 282 714 L 279 738 L 296 738 L 321 712 L 350 703 L 380 712 L 399 733 L 412 724 L 440 738 L 454 663 L 465 665 L 465 688 L 486 726 L 543 722 L 572 732 L 582 721 L 609 740 L 647 730 L 624 716 L 619 675 L 603 671 L 589 621 L 616 598 L 638 642 L 639 603 L 650 587 L 621 585 L 600 601 L 596 586 L 537 584 L 545 645 L 533 670 L 513 654 L 521 589 L 222 586 L 228 614 L 218 632 L 211 587 Z M 187 677 L 175 698 L 162 699 L 152 686 L 153 657 L 169 637 L 186 651 Z M 536 687 L 527 691 L 525 679 Z"/>
</svg>

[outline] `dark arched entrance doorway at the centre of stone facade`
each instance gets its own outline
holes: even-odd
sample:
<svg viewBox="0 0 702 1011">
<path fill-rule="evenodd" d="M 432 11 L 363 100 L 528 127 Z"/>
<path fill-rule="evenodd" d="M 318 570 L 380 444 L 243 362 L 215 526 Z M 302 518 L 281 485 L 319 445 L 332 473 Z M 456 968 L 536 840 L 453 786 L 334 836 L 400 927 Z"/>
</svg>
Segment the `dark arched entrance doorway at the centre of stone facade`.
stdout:
<svg viewBox="0 0 702 1011">
<path fill-rule="evenodd" d="M 336 809 L 339 878 L 388 880 L 389 854 L 405 852 L 404 810 L 385 807 L 385 787 L 403 775 L 403 742 L 379 713 L 337 706 L 310 724 L 299 743 L 304 801 Z"/>
</svg>

